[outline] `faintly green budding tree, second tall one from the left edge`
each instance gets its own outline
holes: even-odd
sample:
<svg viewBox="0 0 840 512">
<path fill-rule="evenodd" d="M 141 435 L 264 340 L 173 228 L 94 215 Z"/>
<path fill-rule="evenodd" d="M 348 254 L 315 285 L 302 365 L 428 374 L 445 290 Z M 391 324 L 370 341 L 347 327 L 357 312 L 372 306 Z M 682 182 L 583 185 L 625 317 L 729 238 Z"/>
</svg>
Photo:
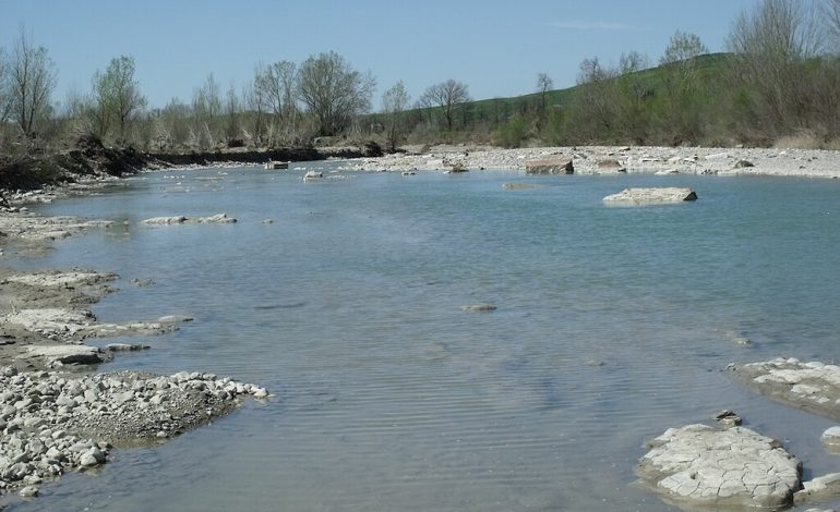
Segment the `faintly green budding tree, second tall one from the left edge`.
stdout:
<svg viewBox="0 0 840 512">
<path fill-rule="evenodd" d="M 111 59 L 105 72 L 94 74 L 94 108 L 100 121 L 100 135 L 106 135 L 109 120 L 117 123 L 117 135 L 125 138 L 125 130 L 146 105 L 134 80 L 134 59 L 121 56 Z"/>
</svg>

